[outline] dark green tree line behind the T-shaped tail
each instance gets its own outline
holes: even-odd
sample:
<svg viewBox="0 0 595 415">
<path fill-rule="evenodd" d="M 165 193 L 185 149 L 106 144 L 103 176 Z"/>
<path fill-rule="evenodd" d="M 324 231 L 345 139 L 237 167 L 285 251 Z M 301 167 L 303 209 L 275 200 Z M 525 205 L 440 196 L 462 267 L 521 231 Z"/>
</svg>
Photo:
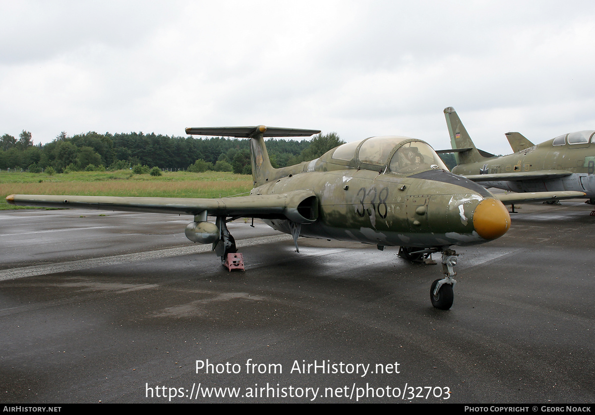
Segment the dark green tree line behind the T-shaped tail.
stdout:
<svg viewBox="0 0 595 415">
<path fill-rule="evenodd" d="M 274 167 L 290 166 L 320 157 L 343 143 L 336 133 L 318 134 L 312 140 L 268 139 L 267 150 Z M 318 154 L 320 153 L 320 154 Z M 0 169 L 38 173 L 51 168 L 62 173 L 77 170 L 120 170 L 155 166 L 164 170 L 218 170 L 250 173 L 249 140 L 195 138 L 161 134 L 88 132 L 33 145 L 30 132 L 17 140 L 0 139 Z"/>
</svg>

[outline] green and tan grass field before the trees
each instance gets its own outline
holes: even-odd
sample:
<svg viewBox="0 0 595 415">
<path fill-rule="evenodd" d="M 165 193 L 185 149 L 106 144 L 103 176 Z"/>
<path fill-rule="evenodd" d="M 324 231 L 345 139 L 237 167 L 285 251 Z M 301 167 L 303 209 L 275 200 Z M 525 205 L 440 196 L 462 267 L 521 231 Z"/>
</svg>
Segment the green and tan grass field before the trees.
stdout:
<svg viewBox="0 0 595 415">
<path fill-rule="evenodd" d="M 252 176 L 228 172 L 164 172 L 162 176 L 132 174 L 129 170 L 46 173 L 0 172 L 0 210 L 25 208 L 6 202 L 6 196 L 77 195 L 218 198 L 252 189 Z"/>
</svg>

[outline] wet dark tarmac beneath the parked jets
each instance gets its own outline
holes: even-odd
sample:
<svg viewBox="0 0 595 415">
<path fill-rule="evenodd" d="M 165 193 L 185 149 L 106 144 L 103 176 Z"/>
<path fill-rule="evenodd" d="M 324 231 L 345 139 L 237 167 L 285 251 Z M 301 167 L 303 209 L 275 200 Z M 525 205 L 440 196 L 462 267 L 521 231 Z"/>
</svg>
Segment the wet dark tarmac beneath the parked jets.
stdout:
<svg viewBox="0 0 595 415">
<path fill-rule="evenodd" d="M 523 205 L 440 266 L 398 248 L 230 225 L 246 272 L 191 217 L 0 211 L 0 401 L 592 403 L 595 217 Z M 434 255 L 439 260 L 438 255 Z"/>
</svg>

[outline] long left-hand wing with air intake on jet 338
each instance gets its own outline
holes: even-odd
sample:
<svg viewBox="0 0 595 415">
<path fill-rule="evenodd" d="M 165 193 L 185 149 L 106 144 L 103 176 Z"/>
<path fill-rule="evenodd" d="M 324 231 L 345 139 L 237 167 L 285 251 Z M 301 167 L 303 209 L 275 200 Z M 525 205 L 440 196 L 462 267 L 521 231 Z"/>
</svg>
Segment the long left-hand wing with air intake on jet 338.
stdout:
<svg viewBox="0 0 595 415">
<path fill-rule="evenodd" d="M 314 192 L 306 190 L 220 199 L 10 195 L 6 200 L 12 205 L 128 212 L 198 215 L 206 211 L 208 216 L 289 219 L 296 223 L 312 223 L 318 219 L 318 198 Z"/>
</svg>

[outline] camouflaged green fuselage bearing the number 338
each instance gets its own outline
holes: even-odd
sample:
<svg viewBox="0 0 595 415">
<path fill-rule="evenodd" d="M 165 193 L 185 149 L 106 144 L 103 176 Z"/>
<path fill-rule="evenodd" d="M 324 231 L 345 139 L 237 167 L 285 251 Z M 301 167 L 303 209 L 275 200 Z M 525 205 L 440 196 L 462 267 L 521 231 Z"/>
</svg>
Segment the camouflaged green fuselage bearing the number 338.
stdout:
<svg viewBox="0 0 595 415">
<path fill-rule="evenodd" d="M 304 189 L 307 183 L 306 188 L 318 199 L 318 220 L 303 224 L 299 233 L 309 238 L 384 246 L 481 244 L 493 239 L 486 233 L 481 236 L 475 229 L 481 221 L 476 210 L 486 199 L 497 207 L 498 220 L 503 219 L 499 226 L 510 223 L 503 205 L 470 180 L 442 169 L 408 176 L 386 170 L 340 166 L 323 155 L 315 163 L 304 164 L 300 173 L 267 182 L 251 194 L 284 194 Z M 288 220 L 265 222 L 281 232 L 292 233 Z"/>
</svg>

